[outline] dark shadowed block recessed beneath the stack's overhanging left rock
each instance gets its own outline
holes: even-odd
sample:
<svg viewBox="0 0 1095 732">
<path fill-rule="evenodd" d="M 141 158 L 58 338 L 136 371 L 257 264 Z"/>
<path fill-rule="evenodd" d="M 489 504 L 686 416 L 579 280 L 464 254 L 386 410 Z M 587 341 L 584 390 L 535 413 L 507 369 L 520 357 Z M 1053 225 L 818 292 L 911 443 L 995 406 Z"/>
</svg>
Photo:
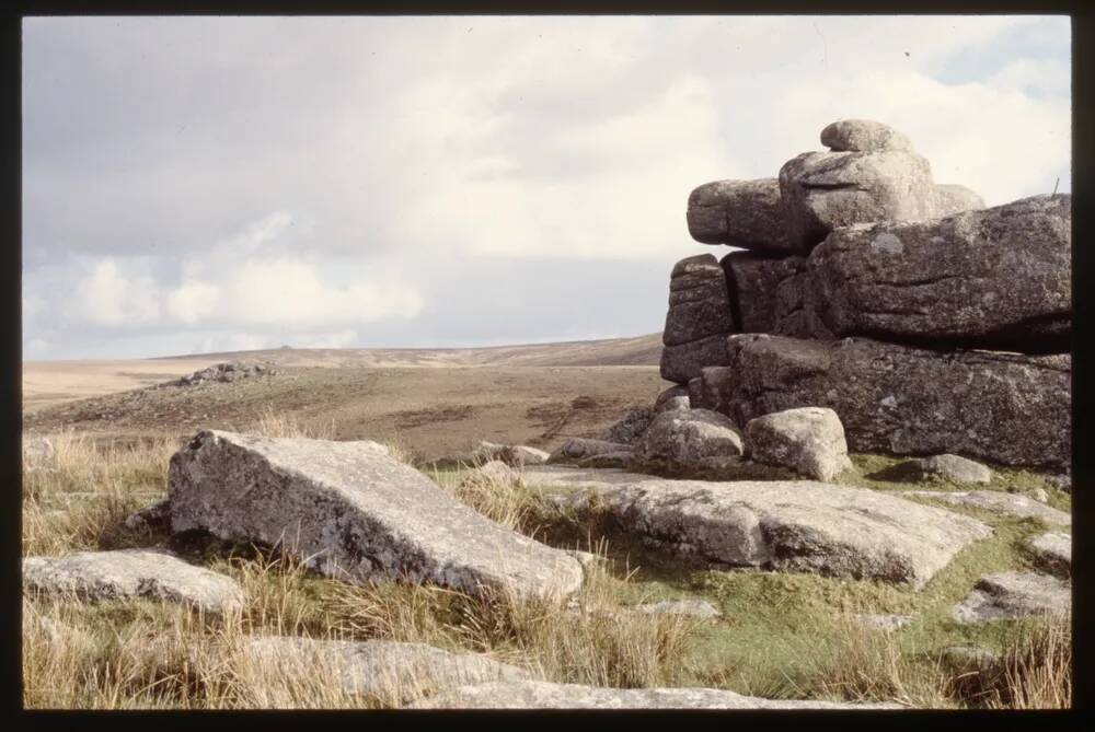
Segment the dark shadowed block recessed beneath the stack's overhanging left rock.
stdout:
<svg viewBox="0 0 1095 732">
<path fill-rule="evenodd" d="M 802 275 L 807 259 L 775 258 L 751 252 L 731 252 L 723 257 L 734 322 L 740 333 L 794 333 L 793 313 L 803 307 Z M 803 321 L 805 323 L 805 321 Z"/>
</svg>

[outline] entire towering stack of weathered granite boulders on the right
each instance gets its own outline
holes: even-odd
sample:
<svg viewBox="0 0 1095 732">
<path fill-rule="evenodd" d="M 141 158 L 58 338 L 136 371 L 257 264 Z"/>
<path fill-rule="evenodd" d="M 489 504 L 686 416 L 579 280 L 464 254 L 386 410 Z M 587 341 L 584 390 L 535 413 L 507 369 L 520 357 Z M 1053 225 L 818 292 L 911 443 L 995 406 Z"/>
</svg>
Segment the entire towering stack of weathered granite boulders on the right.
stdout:
<svg viewBox="0 0 1095 732">
<path fill-rule="evenodd" d="M 737 425 L 828 407 L 853 451 L 1067 469 L 1071 196 L 984 208 L 879 123 L 821 142 L 692 191 L 693 239 L 736 251 L 673 268 L 661 375 Z"/>
</svg>

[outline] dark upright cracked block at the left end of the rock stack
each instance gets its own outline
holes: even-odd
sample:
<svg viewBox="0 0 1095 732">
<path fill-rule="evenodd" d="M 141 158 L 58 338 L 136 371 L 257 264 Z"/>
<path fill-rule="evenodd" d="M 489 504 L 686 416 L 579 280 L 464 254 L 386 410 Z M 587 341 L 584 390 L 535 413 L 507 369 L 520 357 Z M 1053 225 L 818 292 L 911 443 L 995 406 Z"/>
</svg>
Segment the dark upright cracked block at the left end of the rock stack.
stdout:
<svg viewBox="0 0 1095 732">
<path fill-rule="evenodd" d="M 661 377 L 683 384 L 698 375 L 701 365 L 725 359 L 724 337 L 735 330 L 718 260 L 702 254 L 678 262 L 669 280 Z"/>
</svg>

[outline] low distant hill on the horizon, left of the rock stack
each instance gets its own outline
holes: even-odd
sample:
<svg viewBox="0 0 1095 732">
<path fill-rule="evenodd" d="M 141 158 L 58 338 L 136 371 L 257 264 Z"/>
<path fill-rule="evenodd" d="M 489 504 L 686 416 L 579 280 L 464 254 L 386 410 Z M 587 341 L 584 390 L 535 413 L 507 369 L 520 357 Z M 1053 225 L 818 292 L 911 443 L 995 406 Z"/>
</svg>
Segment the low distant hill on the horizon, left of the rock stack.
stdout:
<svg viewBox="0 0 1095 732">
<path fill-rule="evenodd" d="M 284 367 L 658 365 L 661 334 L 489 348 L 270 348 L 172 356 L 164 360 L 268 361 Z M 160 359 L 148 359 L 157 361 Z"/>
</svg>

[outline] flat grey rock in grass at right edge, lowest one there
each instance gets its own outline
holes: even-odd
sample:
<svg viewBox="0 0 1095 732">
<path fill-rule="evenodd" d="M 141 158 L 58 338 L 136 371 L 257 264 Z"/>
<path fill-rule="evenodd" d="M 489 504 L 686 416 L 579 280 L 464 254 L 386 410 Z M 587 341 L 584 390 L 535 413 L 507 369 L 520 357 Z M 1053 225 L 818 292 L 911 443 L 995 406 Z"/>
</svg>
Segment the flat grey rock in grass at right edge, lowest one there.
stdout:
<svg viewBox="0 0 1095 732">
<path fill-rule="evenodd" d="M 981 578 L 954 607 L 959 623 L 983 623 L 1033 615 L 1067 615 L 1072 607 L 1068 582 L 1035 572 L 1001 572 Z"/>
</svg>

